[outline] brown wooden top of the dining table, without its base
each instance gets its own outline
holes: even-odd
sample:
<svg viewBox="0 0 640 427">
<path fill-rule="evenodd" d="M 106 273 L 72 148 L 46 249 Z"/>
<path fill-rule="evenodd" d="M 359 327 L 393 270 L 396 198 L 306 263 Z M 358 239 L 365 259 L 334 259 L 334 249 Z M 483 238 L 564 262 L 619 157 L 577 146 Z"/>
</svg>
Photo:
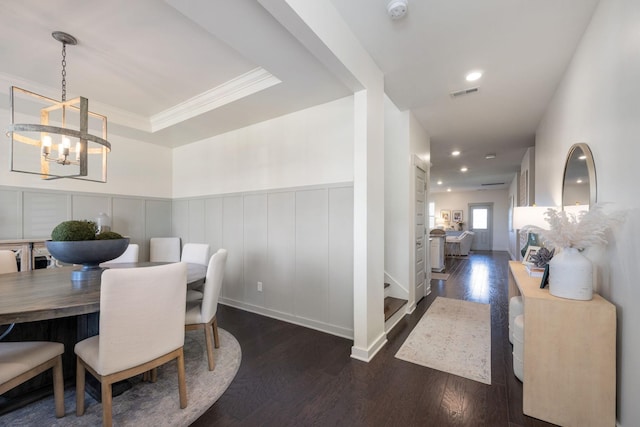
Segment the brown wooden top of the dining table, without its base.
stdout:
<svg viewBox="0 0 640 427">
<path fill-rule="evenodd" d="M 111 264 L 140 268 L 164 263 Z M 79 267 L 46 268 L 0 275 L 0 325 L 33 322 L 100 311 L 100 280 L 71 281 Z M 187 284 L 202 283 L 207 267 L 187 264 Z"/>
</svg>

